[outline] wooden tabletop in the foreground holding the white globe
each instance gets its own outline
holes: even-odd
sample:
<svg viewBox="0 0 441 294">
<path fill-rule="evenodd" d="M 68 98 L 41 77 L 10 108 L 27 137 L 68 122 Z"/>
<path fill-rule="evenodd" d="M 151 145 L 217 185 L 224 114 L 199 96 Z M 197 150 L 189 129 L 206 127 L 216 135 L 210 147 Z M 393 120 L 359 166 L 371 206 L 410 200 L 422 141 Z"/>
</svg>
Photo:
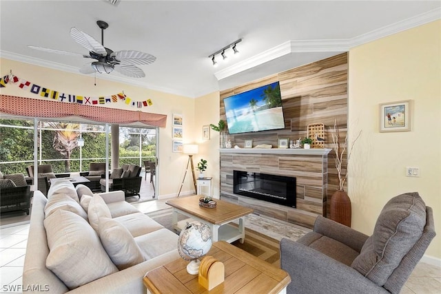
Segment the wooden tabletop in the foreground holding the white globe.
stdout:
<svg viewBox="0 0 441 294">
<path fill-rule="evenodd" d="M 291 278 L 256 256 L 225 241 L 216 242 L 207 253 L 225 266 L 225 281 L 212 293 L 286 293 Z M 207 293 L 198 275 L 187 273 L 182 258 L 148 271 L 143 282 L 147 293 Z"/>
</svg>

